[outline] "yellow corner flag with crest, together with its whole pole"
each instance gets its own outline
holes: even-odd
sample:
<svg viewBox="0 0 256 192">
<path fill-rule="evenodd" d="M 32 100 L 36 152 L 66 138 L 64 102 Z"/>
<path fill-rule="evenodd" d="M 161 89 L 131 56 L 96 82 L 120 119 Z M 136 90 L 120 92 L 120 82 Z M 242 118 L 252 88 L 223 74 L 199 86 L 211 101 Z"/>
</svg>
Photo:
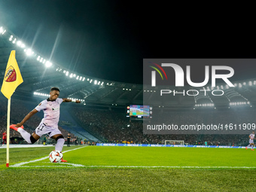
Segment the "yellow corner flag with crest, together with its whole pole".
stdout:
<svg viewBox="0 0 256 192">
<path fill-rule="evenodd" d="M 8 99 L 6 167 L 9 167 L 11 96 L 14 94 L 16 88 L 22 83 L 23 77 L 20 74 L 20 69 L 17 60 L 15 59 L 15 50 L 12 50 L 5 69 L 5 76 L 1 88 L 1 92 Z"/>
</svg>

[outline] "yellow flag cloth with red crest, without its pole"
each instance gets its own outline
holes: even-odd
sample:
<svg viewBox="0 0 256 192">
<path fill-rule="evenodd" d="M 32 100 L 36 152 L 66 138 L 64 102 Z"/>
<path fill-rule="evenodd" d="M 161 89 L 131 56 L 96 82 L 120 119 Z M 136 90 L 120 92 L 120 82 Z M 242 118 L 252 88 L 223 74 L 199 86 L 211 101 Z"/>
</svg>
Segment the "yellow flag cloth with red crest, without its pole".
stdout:
<svg viewBox="0 0 256 192">
<path fill-rule="evenodd" d="M 7 99 L 10 99 L 16 88 L 22 83 L 23 77 L 20 74 L 20 69 L 15 59 L 15 50 L 12 50 L 5 70 L 1 92 Z"/>
</svg>

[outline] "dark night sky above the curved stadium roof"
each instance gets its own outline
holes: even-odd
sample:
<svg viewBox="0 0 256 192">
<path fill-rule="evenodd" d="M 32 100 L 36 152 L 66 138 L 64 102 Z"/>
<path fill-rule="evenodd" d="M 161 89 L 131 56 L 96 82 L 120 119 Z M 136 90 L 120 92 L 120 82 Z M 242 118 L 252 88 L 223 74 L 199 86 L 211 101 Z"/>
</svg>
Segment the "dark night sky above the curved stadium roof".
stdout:
<svg viewBox="0 0 256 192">
<path fill-rule="evenodd" d="M 177 9 L 113 0 L 0 0 L 0 24 L 72 72 L 133 84 L 143 83 L 143 58 L 256 57 L 231 37 L 232 27 Z"/>
</svg>

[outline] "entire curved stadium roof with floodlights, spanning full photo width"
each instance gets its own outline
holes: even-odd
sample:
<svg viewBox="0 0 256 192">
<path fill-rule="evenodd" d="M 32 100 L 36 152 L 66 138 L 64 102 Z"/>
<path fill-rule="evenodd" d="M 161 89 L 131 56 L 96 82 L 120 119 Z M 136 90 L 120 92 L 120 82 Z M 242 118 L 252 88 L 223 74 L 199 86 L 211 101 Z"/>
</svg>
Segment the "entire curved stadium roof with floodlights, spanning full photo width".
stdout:
<svg viewBox="0 0 256 192">
<path fill-rule="evenodd" d="M 2 26 L 0 26 L 0 79 L 5 75 L 11 50 L 16 50 L 16 59 L 24 81 L 17 88 L 17 95 L 28 98 L 31 96 L 45 98 L 49 94 L 50 87 L 59 87 L 60 96 L 63 98 L 80 99 L 87 105 L 109 107 L 148 104 L 159 108 L 230 108 L 236 105 L 252 107 L 256 103 L 256 79 L 233 82 L 235 87 L 217 84 L 214 88 L 206 86 L 195 89 L 187 86 L 184 87 L 184 95 L 176 94 L 174 97 L 168 94 L 163 99 L 154 99 L 159 94 L 160 87 L 106 81 L 69 72 L 61 65 L 51 63 L 39 53 L 34 53 Z M 2 81 L 0 85 L 2 86 Z M 162 89 L 182 92 L 177 87 L 162 87 Z M 224 94 L 213 96 L 212 91 L 217 89 L 223 90 Z"/>
</svg>

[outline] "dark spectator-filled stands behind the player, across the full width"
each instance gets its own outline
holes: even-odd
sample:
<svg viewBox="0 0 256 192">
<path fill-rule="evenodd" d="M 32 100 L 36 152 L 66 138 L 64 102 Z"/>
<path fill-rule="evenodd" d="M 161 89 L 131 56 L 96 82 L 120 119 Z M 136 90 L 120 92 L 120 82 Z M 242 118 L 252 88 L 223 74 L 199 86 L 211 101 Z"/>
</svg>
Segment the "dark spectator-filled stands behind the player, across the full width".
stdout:
<svg viewBox="0 0 256 192">
<path fill-rule="evenodd" d="M 35 106 L 38 103 L 33 103 Z M 34 107 L 35 107 L 34 106 Z M 23 117 L 33 108 L 27 108 L 26 101 L 12 99 L 11 101 L 11 124 L 23 120 Z M 62 110 L 66 110 L 65 108 Z M 252 123 L 254 122 L 254 114 L 256 111 L 172 111 L 169 114 L 164 112 L 169 123 L 174 124 L 194 124 L 212 122 L 218 123 Z M 165 140 L 184 140 L 188 145 L 248 145 L 248 135 L 251 130 L 247 130 L 244 134 L 144 134 L 142 120 L 130 120 L 126 114 L 116 110 L 108 109 L 92 109 L 72 107 L 69 110 L 72 117 L 87 132 L 91 133 L 102 140 L 102 142 L 112 143 L 140 143 L 140 144 L 164 144 Z M 161 119 L 163 112 L 155 112 L 155 119 Z M 24 127 L 29 133 L 33 133 L 35 128 L 41 122 L 41 117 L 35 114 L 28 120 Z M 168 120 L 167 120 L 168 122 Z M 7 123 L 7 101 L 0 102 L 0 136 L 6 130 Z M 66 122 L 62 121 L 62 124 Z M 59 130 L 66 138 L 68 131 L 59 126 Z M 70 133 L 72 138 L 76 136 Z M 10 130 L 10 138 L 20 137 L 20 133 Z"/>
</svg>

